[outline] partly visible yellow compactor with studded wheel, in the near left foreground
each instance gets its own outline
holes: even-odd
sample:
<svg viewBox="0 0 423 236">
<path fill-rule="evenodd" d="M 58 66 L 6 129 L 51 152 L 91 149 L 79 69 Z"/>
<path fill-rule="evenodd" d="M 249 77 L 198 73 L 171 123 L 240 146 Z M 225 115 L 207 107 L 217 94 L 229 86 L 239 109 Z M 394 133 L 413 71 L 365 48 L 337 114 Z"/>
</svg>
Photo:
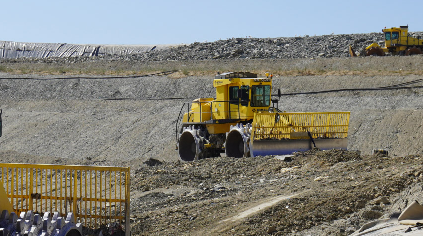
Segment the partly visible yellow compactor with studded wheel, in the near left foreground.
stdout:
<svg viewBox="0 0 423 236">
<path fill-rule="evenodd" d="M 0 163 L 0 236 L 129 236 L 129 171 Z"/>
</svg>

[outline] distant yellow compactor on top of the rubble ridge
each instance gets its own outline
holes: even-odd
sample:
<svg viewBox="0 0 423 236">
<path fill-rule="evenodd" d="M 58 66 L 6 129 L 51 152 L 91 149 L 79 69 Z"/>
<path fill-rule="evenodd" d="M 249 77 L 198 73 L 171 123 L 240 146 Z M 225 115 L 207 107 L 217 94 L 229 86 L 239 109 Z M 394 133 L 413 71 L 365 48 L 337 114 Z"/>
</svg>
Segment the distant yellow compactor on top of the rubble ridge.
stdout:
<svg viewBox="0 0 423 236">
<path fill-rule="evenodd" d="M 399 28 L 382 29 L 385 34 L 385 47 L 372 43 L 366 47 L 365 56 L 385 56 L 385 53 L 392 55 L 414 55 L 423 53 L 423 40 L 413 38 L 408 35 L 408 26 L 400 26 Z M 357 56 L 351 45 L 349 46 L 351 57 Z"/>
</svg>

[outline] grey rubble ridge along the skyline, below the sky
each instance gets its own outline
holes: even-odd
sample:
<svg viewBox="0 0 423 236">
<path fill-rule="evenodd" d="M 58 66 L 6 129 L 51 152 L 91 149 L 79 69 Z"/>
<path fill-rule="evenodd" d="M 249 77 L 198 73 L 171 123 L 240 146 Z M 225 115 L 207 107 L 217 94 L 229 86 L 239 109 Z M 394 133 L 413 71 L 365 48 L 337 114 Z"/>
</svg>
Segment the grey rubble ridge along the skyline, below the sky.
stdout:
<svg viewBox="0 0 423 236">
<path fill-rule="evenodd" d="M 412 32 L 411 37 L 422 38 L 423 32 Z M 348 46 L 356 52 L 373 42 L 383 44 L 382 33 L 339 34 L 281 38 L 230 38 L 215 42 L 194 42 L 164 50 L 141 54 L 70 58 L 2 59 L 0 62 L 87 62 L 87 61 L 190 61 L 210 59 L 290 59 L 317 57 L 349 57 Z M 382 42 L 381 42 L 382 41 Z"/>
</svg>

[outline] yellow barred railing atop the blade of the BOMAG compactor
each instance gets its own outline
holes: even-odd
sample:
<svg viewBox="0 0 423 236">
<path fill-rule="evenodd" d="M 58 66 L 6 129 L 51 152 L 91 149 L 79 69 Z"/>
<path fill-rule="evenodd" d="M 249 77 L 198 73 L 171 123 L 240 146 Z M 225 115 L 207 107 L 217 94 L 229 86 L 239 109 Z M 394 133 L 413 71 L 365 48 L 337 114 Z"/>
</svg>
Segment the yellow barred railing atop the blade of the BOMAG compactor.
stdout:
<svg viewBox="0 0 423 236">
<path fill-rule="evenodd" d="M 290 139 L 295 132 L 317 138 L 347 138 L 350 112 L 255 113 L 254 140 Z M 277 117 L 279 116 L 279 118 Z"/>
</svg>

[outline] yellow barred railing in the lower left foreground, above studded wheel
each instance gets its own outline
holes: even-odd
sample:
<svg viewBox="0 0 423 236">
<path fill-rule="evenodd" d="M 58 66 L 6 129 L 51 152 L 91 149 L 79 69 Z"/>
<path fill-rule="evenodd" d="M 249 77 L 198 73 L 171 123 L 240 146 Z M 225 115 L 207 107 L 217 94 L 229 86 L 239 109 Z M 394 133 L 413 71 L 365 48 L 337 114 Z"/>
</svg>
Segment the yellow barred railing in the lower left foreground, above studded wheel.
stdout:
<svg viewBox="0 0 423 236">
<path fill-rule="evenodd" d="M 0 176 L 17 214 L 73 212 L 89 228 L 119 222 L 129 236 L 129 167 L 0 163 Z"/>
</svg>

